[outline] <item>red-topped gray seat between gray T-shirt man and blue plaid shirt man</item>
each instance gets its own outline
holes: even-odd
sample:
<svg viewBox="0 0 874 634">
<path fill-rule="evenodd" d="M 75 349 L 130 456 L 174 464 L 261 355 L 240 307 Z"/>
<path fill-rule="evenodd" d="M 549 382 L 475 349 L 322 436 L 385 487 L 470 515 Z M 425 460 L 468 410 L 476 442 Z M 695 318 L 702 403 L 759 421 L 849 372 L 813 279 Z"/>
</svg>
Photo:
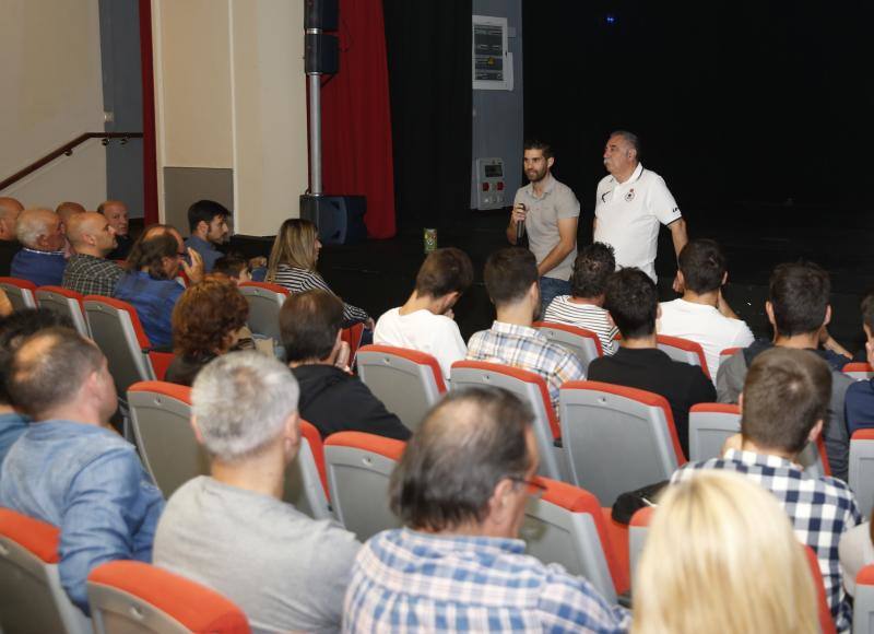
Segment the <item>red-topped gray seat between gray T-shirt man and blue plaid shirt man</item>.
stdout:
<svg viewBox="0 0 874 634">
<path fill-rule="evenodd" d="M 389 508 L 389 478 L 405 443 L 362 432 L 339 432 L 324 441 L 331 505 L 340 523 L 365 541 L 401 520 Z"/>
</svg>

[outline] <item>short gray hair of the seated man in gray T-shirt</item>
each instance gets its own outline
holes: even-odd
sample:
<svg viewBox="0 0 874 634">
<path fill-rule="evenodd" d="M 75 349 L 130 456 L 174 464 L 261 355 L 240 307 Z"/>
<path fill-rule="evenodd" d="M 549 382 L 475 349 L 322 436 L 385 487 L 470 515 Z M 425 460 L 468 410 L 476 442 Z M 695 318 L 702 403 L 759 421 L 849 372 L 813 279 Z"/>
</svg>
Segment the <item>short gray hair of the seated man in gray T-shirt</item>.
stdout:
<svg viewBox="0 0 874 634">
<path fill-rule="evenodd" d="M 206 450 L 224 461 L 258 454 L 297 411 L 292 372 L 260 352 L 224 354 L 194 379 L 191 411 Z"/>
</svg>

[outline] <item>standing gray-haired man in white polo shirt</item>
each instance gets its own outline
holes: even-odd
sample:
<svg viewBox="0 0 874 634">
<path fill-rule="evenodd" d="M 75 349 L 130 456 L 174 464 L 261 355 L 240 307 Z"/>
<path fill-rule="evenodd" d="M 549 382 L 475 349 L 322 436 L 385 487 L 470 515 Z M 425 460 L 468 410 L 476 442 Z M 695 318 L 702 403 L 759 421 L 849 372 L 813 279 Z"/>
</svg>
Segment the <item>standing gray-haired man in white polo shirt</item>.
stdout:
<svg viewBox="0 0 874 634">
<path fill-rule="evenodd" d="M 604 148 L 604 167 L 610 176 L 598 184 L 594 208 L 594 240 L 609 244 L 616 254 L 616 267 L 637 267 L 653 282 L 659 224 L 671 230 L 674 251 L 686 246 L 686 221 L 664 179 L 640 163 L 637 134 L 617 130 Z M 674 289 L 682 292 L 675 282 Z"/>
</svg>

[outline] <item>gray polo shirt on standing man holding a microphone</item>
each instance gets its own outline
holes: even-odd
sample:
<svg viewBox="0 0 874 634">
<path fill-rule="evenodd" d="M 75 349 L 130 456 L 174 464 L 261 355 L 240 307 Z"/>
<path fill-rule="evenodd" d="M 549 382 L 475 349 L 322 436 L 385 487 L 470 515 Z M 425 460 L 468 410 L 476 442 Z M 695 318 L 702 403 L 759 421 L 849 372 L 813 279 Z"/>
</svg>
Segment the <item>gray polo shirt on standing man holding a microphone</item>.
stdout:
<svg viewBox="0 0 874 634">
<path fill-rule="evenodd" d="M 528 246 L 540 263 L 558 244 L 558 221 L 565 218 L 579 218 L 580 203 L 574 191 L 553 178 L 552 174 L 547 174 L 544 179 L 543 196 L 538 198 L 534 195 L 534 186 L 529 183 L 516 190 L 513 204 L 518 202 L 523 202 L 528 208 L 525 216 Z M 569 280 L 575 259 L 577 259 L 576 242 L 574 250 L 544 277 Z"/>
</svg>

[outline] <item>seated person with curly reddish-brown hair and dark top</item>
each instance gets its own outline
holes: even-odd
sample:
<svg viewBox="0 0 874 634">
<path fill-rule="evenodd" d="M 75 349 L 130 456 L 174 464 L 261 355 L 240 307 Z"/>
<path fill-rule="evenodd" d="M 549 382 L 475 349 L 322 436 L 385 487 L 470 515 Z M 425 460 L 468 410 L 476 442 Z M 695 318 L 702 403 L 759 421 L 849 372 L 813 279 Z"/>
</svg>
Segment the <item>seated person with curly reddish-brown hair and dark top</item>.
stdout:
<svg viewBox="0 0 874 634">
<path fill-rule="evenodd" d="M 216 356 L 229 352 L 249 316 L 249 304 L 231 280 L 208 277 L 185 290 L 173 309 L 173 352 L 164 380 L 190 386 Z"/>
</svg>

